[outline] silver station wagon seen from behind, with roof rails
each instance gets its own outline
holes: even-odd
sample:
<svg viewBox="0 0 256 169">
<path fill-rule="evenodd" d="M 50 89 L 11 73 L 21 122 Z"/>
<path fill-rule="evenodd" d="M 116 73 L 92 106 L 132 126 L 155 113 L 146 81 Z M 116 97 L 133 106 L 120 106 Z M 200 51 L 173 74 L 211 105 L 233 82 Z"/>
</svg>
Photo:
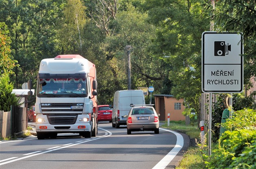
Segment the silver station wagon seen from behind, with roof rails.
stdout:
<svg viewBox="0 0 256 169">
<path fill-rule="evenodd" d="M 132 108 L 127 117 L 127 134 L 132 131 L 154 131 L 159 134 L 159 118 L 153 105 L 131 105 Z"/>
</svg>

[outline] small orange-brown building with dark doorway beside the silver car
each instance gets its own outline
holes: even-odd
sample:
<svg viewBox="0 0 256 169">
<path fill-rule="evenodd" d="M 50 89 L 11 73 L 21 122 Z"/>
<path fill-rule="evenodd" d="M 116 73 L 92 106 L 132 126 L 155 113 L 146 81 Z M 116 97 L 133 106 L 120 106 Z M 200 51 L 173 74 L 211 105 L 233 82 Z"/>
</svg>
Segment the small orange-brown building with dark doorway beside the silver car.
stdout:
<svg viewBox="0 0 256 169">
<path fill-rule="evenodd" d="M 182 114 L 185 109 L 184 99 L 177 100 L 173 95 L 154 95 L 154 97 L 156 112 L 160 114 L 161 121 L 167 121 L 168 113 L 170 120 L 185 120 L 185 116 Z"/>
</svg>

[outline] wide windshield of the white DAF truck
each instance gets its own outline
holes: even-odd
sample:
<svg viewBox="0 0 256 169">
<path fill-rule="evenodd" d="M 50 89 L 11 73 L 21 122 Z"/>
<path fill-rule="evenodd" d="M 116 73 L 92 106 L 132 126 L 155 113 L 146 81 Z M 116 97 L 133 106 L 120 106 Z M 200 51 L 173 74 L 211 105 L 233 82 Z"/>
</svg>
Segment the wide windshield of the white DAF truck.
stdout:
<svg viewBox="0 0 256 169">
<path fill-rule="evenodd" d="M 87 97 L 86 78 L 39 78 L 38 97 Z"/>
</svg>

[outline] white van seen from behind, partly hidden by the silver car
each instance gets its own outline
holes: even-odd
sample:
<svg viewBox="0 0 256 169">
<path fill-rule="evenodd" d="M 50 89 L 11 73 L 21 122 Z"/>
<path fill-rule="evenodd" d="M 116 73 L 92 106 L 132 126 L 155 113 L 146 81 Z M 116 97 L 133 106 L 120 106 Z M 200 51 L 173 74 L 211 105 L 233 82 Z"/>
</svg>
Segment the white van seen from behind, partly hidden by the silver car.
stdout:
<svg viewBox="0 0 256 169">
<path fill-rule="evenodd" d="M 142 90 L 124 90 L 116 91 L 114 95 L 114 104 L 112 110 L 112 127 L 119 128 L 120 125 L 126 125 L 125 114 L 131 109 L 130 104 L 145 105 L 145 98 Z"/>
</svg>

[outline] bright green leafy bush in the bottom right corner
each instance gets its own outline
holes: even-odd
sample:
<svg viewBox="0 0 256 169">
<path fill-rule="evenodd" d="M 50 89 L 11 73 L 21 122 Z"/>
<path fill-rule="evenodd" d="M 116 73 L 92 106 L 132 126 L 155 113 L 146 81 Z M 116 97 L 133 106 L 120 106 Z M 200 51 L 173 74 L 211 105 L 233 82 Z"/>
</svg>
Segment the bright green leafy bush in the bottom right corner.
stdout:
<svg viewBox="0 0 256 169">
<path fill-rule="evenodd" d="M 256 168 L 256 110 L 240 110 L 223 124 L 227 129 L 207 167 Z"/>
</svg>

